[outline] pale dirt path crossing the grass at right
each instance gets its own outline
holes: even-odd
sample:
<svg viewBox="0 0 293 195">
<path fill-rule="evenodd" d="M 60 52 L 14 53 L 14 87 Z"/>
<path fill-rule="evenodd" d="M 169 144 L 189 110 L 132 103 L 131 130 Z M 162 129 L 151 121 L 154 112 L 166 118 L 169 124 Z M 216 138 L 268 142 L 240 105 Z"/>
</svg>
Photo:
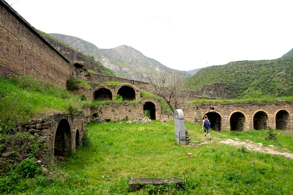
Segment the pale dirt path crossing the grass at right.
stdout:
<svg viewBox="0 0 293 195">
<path fill-rule="evenodd" d="M 292 133 L 293 131 L 291 131 L 290 133 Z M 236 140 L 233 139 L 225 139 L 225 140 L 221 140 L 221 141 L 205 141 L 202 143 L 194 143 L 197 141 L 191 141 L 191 143 L 189 143 L 190 146 L 196 146 L 196 145 L 201 145 L 201 144 L 209 144 L 209 143 L 224 143 L 224 144 L 229 144 L 229 145 L 233 145 L 236 146 L 237 148 L 240 148 L 241 146 L 245 146 L 247 150 L 249 151 L 256 151 L 256 152 L 262 152 L 262 153 L 266 153 L 266 154 L 271 154 L 271 155 L 282 155 L 282 156 L 286 156 L 288 158 L 292 158 L 293 159 L 293 154 L 289 152 L 279 152 L 279 148 L 275 148 L 273 145 L 270 146 L 262 146 L 261 143 L 254 143 L 250 140 L 246 140 L 246 141 L 242 141 L 242 140 L 237 140 L 237 138 L 235 138 Z M 283 151 L 286 151 L 286 148 L 281 149 Z"/>
</svg>

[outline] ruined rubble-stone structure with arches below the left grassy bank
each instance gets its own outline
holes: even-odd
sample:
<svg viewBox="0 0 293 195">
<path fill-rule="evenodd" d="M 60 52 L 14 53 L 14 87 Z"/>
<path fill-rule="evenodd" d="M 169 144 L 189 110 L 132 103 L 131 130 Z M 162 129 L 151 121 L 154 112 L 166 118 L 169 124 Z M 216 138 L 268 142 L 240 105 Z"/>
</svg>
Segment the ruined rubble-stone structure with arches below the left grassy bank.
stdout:
<svg viewBox="0 0 293 195">
<path fill-rule="evenodd" d="M 89 120 L 90 117 L 82 114 L 55 113 L 31 119 L 22 129 L 47 143 L 48 156 L 66 156 L 82 145 L 84 126 Z"/>
</svg>

